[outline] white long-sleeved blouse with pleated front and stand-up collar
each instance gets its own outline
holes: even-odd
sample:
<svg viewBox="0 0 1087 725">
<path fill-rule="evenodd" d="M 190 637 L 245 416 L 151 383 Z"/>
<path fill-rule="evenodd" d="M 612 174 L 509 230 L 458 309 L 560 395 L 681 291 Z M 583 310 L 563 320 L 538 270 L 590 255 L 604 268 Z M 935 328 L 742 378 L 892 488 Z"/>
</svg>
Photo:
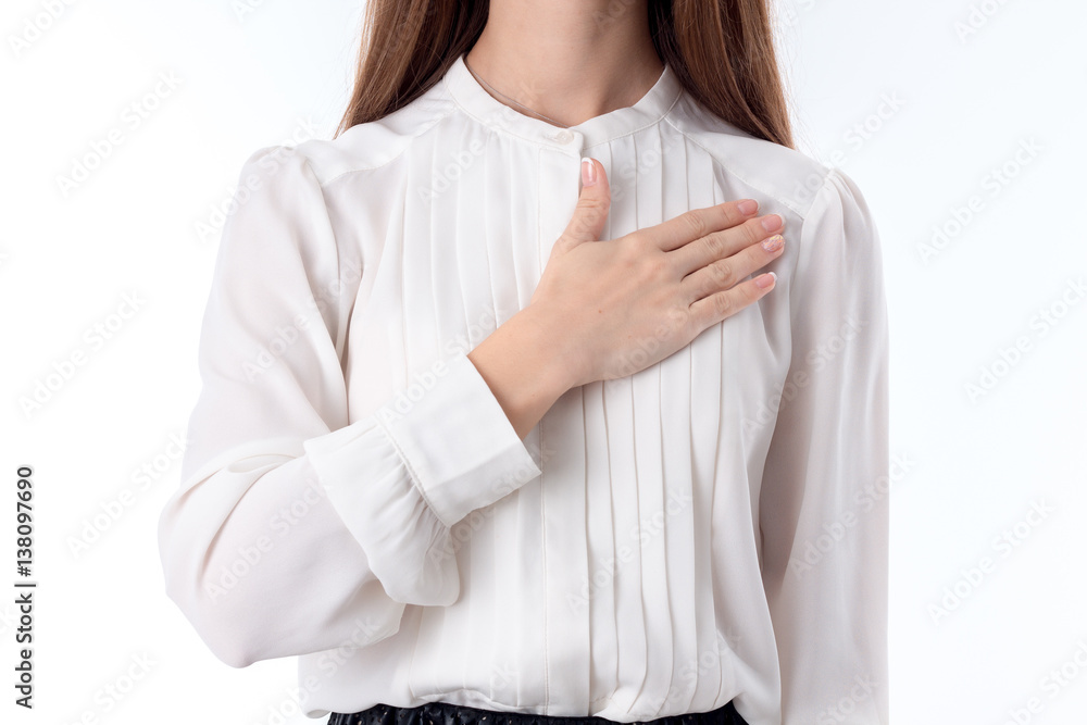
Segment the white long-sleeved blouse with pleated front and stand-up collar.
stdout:
<svg viewBox="0 0 1087 725">
<path fill-rule="evenodd" d="M 528 301 L 603 163 L 604 239 L 750 197 L 777 286 L 517 437 L 466 357 Z M 887 320 L 836 168 L 674 72 L 562 130 L 458 59 L 335 140 L 257 151 L 159 522 L 166 593 L 308 716 L 445 701 L 617 722 L 887 723 Z"/>
</svg>

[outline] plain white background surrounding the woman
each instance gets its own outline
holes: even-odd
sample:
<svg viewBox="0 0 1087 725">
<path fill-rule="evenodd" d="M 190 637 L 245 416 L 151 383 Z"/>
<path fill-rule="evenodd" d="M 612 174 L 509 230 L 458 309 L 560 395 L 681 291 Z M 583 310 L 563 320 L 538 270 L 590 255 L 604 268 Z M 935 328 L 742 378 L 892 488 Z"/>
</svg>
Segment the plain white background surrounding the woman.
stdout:
<svg viewBox="0 0 1087 725">
<path fill-rule="evenodd" d="M 297 714 L 292 659 L 234 670 L 207 650 L 164 596 L 155 525 L 179 485 L 171 436 L 199 390 L 217 235 L 198 224 L 255 149 L 332 136 L 360 3 L 102 0 L 53 3 L 55 18 L 49 4 L 0 11 L 0 554 L 12 562 L 0 720 L 314 722 Z M 901 725 L 1087 713 L 1085 28 L 1072 0 L 778 8 L 800 148 L 858 182 L 880 230 L 891 451 L 904 462 L 890 491 Z M 133 103 L 147 109 L 138 127 Z M 62 189 L 115 128 L 121 143 Z M 99 324 L 109 339 L 87 333 Z M 51 374 L 48 399 L 24 409 Z M 35 470 L 33 712 L 12 703 L 23 464 Z"/>
</svg>

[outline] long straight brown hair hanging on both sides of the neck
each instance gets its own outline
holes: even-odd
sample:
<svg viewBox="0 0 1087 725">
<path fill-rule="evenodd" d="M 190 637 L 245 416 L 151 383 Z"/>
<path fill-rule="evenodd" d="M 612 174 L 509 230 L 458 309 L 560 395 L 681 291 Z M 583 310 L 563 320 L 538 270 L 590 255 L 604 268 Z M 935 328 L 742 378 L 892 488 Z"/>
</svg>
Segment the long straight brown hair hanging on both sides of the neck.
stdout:
<svg viewBox="0 0 1087 725">
<path fill-rule="evenodd" d="M 769 0 L 649 0 L 661 60 L 702 108 L 794 148 Z M 407 105 L 467 52 L 489 0 L 370 0 L 351 101 L 336 135 Z M 602 18 L 607 22 L 608 18 Z"/>
</svg>

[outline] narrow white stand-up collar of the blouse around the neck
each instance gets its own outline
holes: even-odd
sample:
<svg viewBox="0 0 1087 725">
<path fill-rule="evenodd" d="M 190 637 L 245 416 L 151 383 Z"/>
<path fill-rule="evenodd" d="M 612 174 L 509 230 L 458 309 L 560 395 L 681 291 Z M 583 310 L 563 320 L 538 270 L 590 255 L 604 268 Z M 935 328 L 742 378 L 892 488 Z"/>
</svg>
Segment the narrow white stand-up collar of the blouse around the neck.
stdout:
<svg viewBox="0 0 1087 725">
<path fill-rule="evenodd" d="M 594 116 L 576 126 L 560 128 L 542 118 L 515 111 L 487 92 L 464 64 L 463 54 L 457 57 L 442 80 L 457 104 L 480 123 L 578 155 L 594 146 L 655 124 L 679 99 L 683 88 L 665 63 L 661 77 L 634 105 Z"/>
</svg>

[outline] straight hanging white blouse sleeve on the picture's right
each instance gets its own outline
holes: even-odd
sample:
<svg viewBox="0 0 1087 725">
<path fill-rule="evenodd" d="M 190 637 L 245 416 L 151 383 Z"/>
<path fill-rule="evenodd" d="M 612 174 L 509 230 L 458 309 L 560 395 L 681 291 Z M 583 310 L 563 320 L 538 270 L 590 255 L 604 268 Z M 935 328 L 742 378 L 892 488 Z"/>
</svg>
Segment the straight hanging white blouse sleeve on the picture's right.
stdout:
<svg viewBox="0 0 1087 725">
<path fill-rule="evenodd" d="M 782 722 L 886 724 L 887 309 L 876 227 L 838 170 L 800 230 L 789 309 L 759 514 Z"/>
</svg>

